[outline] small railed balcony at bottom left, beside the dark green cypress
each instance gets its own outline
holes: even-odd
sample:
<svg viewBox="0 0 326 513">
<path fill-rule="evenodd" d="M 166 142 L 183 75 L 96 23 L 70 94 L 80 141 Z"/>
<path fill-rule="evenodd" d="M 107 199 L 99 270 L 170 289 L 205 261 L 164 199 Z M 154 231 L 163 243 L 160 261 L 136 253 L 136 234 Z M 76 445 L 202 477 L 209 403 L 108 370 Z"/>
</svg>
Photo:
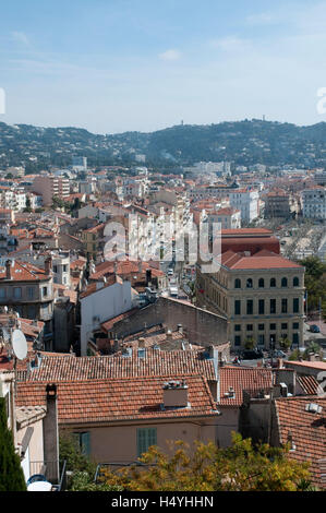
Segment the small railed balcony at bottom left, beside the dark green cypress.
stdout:
<svg viewBox="0 0 326 513">
<path fill-rule="evenodd" d="M 47 481 L 52 485 L 51 491 L 64 491 L 67 489 L 67 461 L 29 462 L 29 476 L 27 485 Z"/>
</svg>

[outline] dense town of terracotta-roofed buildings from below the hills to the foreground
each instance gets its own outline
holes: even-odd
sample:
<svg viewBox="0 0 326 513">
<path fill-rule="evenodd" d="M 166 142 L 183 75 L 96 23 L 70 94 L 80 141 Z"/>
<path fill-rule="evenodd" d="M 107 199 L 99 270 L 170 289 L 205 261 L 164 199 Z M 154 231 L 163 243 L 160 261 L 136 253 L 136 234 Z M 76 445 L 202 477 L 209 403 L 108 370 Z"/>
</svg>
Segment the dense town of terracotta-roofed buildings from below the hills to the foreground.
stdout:
<svg viewBox="0 0 326 513">
<path fill-rule="evenodd" d="M 310 458 L 326 486 L 325 362 L 233 365 L 250 341 L 304 347 L 304 267 L 264 223 L 323 219 L 321 172 L 231 176 L 228 164 L 95 172 L 80 157 L 2 174 L 0 395 L 26 480 L 59 461 L 58 433 L 98 464 L 125 465 L 167 440 L 228 446 L 239 431 L 291 442 L 289 457 Z M 208 227 L 212 249 L 214 225 L 219 266 L 207 272 L 196 236 Z M 12 329 L 28 346 L 19 362 Z"/>
</svg>

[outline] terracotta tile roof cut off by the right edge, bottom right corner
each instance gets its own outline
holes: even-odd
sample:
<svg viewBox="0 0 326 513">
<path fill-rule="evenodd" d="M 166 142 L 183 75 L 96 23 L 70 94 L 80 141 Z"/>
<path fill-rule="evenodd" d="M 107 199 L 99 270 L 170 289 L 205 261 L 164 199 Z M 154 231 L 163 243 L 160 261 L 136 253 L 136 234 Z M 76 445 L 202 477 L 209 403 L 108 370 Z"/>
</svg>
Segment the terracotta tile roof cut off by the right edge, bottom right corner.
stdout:
<svg viewBox="0 0 326 513">
<path fill-rule="evenodd" d="M 306 411 L 310 403 L 322 406 L 322 411 Z M 319 460 L 326 455 L 326 397 L 287 397 L 275 401 L 279 441 L 288 442 L 292 437 L 295 450 L 289 453 L 291 460 L 311 461 L 313 482 L 317 487 L 326 487 L 322 481 Z"/>
</svg>

